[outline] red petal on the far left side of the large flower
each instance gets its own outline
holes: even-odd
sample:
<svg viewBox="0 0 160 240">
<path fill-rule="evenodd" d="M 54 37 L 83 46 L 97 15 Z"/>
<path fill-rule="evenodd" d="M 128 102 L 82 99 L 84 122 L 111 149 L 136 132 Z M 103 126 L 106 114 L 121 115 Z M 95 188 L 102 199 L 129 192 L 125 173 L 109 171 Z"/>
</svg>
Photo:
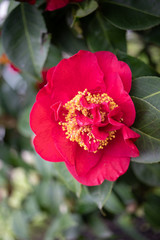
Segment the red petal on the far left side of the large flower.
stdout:
<svg viewBox="0 0 160 240">
<path fill-rule="evenodd" d="M 34 140 L 36 151 L 40 156 L 43 154 L 45 160 L 55 161 L 54 151 L 56 149 L 63 161 L 66 160 L 68 163 L 73 164 L 75 151 L 73 146 L 75 144 L 66 139 L 61 126 L 54 121 L 54 112 L 51 109 L 53 105 L 47 86 L 38 92 L 36 100 L 37 102 L 34 104 L 30 114 L 30 126 L 33 132 L 37 134 Z M 46 144 L 45 146 L 43 141 Z"/>
</svg>

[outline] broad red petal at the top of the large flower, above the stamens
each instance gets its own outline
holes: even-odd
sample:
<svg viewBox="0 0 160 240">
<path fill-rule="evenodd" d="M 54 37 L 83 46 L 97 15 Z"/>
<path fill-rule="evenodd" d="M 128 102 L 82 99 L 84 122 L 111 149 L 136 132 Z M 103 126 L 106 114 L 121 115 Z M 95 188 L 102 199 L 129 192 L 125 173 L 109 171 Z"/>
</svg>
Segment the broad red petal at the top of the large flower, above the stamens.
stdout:
<svg viewBox="0 0 160 240">
<path fill-rule="evenodd" d="M 105 92 L 103 73 L 95 55 L 88 51 L 79 51 L 69 59 L 63 59 L 56 67 L 52 81 L 54 101 L 67 102 L 78 91 L 97 89 Z"/>
</svg>

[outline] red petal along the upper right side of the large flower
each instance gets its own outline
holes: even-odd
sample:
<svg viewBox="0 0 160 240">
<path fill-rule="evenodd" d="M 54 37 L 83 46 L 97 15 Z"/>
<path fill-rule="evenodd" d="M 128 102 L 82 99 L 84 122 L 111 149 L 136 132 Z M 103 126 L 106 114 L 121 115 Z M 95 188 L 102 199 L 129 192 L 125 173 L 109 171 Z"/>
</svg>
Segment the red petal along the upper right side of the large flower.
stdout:
<svg viewBox="0 0 160 240">
<path fill-rule="evenodd" d="M 131 88 L 132 74 L 128 65 L 118 61 L 111 52 L 95 53 L 99 66 L 104 73 L 106 92 L 121 107 L 123 123 L 131 126 L 135 121 L 135 107 L 128 95 Z"/>
</svg>

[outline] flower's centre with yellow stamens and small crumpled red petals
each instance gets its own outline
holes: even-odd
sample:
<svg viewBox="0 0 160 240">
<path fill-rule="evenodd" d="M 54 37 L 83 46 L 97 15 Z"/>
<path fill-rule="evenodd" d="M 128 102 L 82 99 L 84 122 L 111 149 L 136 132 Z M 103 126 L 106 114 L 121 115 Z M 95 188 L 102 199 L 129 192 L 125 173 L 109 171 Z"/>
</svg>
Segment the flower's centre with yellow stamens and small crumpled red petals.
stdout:
<svg viewBox="0 0 160 240">
<path fill-rule="evenodd" d="M 107 93 L 90 93 L 85 89 L 64 106 L 65 121 L 59 122 L 66 138 L 84 150 L 96 153 L 115 138 L 108 116 L 118 105 Z M 120 122 L 120 121 L 119 121 Z"/>
</svg>

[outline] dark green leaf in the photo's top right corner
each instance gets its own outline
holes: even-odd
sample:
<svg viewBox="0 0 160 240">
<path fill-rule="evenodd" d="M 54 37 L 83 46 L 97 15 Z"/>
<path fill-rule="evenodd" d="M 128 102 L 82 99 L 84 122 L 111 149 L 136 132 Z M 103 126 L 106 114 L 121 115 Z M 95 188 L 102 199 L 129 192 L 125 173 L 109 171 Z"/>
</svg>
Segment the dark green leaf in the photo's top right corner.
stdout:
<svg viewBox="0 0 160 240">
<path fill-rule="evenodd" d="M 103 0 L 100 7 L 108 21 L 121 29 L 144 30 L 160 23 L 160 17 L 114 1 Z"/>
</svg>

